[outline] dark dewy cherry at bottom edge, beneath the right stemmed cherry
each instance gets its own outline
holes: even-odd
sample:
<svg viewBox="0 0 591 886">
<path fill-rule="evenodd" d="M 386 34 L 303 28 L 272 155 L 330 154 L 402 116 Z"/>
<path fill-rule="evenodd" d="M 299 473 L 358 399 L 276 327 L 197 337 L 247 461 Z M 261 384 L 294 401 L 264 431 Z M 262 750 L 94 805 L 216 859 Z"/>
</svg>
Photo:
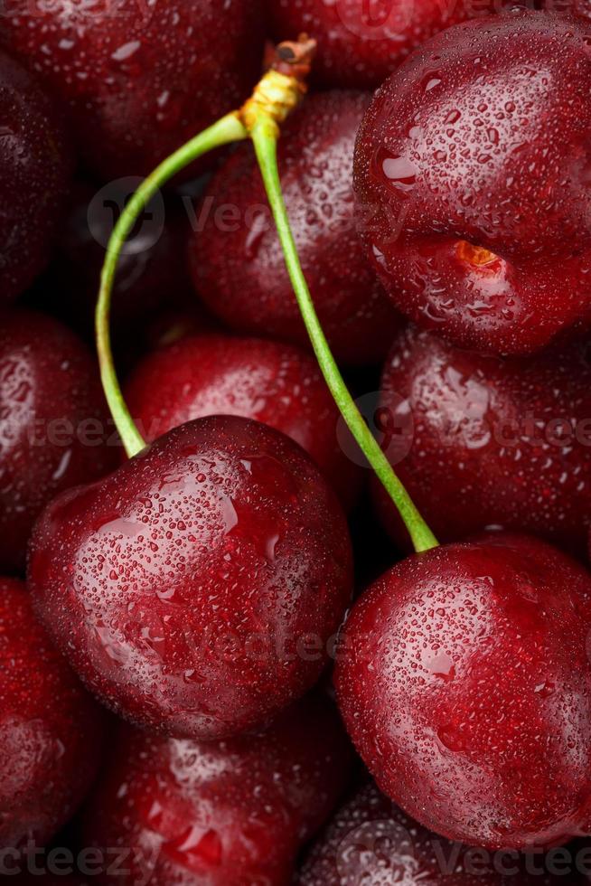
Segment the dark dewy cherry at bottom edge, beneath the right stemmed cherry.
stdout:
<svg viewBox="0 0 591 886">
<path fill-rule="evenodd" d="M 539 855 L 520 859 L 517 853 L 486 853 L 450 843 L 417 825 L 371 784 L 337 812 L 296 882 L 298 886 L 548 886 L 564 882 L 564 878 L 552 879 L 547 870 L 551 863 Z M 576 870 L 575 857 L 570 863 Z"/>
</svg>

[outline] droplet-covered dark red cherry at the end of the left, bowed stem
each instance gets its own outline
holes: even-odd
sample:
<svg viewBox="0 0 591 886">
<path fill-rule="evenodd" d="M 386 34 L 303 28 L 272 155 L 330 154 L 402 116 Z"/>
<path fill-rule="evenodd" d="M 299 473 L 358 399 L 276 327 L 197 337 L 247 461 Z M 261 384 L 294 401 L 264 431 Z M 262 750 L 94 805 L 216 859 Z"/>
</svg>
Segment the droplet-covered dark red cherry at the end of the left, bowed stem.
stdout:
<svg viewBox="0 0 591 886">
<path fill-rule="evenodd" d="M 213 416 L 54 500 L 35 528 L 29 586 L 109 707 L 212 740 L 314 685 L 351 597 L 351 542 L 303 449 Z"/>
</svg>

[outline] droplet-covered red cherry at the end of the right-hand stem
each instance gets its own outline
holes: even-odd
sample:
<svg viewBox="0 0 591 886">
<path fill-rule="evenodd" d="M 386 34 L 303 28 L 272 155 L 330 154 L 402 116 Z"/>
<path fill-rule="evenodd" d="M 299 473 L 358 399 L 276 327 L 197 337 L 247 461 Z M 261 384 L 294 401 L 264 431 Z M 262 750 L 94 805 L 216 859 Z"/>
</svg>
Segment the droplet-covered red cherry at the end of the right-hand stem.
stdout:
<svg viewBox="0 0 591 886">
<path fill-rule="evenodd" d="M 591 576 L 528 536 L 409 557 L 352 608 L 334 673 L 388 796 L 461 843 L 587 833 Z"/>
</svg>

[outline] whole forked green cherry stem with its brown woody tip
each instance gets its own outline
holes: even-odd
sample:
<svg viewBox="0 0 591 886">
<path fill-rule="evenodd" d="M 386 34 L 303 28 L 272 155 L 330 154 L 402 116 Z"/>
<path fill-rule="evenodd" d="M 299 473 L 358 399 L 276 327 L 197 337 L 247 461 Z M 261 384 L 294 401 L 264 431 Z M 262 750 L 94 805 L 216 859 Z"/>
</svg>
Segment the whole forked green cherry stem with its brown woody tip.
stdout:
<svg viewBox="0 0 591 886">
<path fill-rule="evenodd" d="M 361 416 L 351 393 L 342 379 L 324 335 L 297 254 L 296 241 L 289 224 L 277 168 L 279 123 L 296 108 L 305 94 L 305 78 L 310 70 L 315 43 L 303 34 L 299 41 L 280 44 L 275 50 L 271 69 L 263 76 L 251 98 L 238 111 L 221 118 L 175 151 L 148 175 L 127 203 L 108 242 L 107 257 L 100 278 L 96 310 L 96 337 L 100 377 L 108 407 L 123 441 L 127 456 L 133 457 L 145 448 L 145 440 L 127 410 L 117 381 L 109 335 L 109 314 L 117 262 L 137 217 L 146 205 L 175 174 L 198 157 L 231 142 L 252 139 L 267 198 L 277 226 L 284 252 L 286 269 L 296 293 L 297 303 L 324 379 L 361 451 L 379 477 L 380 482 L 399 510 L 415 550 L 428 551 L 437 540 L 418 513 L 405 487 L 389 464 L 378 441 Z"/>
</svg>

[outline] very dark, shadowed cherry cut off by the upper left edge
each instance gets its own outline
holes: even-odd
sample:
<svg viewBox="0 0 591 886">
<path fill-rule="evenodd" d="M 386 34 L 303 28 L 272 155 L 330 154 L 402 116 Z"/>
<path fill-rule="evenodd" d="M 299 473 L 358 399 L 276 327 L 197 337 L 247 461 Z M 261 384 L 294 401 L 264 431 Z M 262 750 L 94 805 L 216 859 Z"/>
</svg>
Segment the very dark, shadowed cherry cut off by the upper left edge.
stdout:
<svg viewBox="0 0 591 886">
<path fill-rule="evenodd" d="M 71 157 L 52 102 L 5 52 L 0 132 L 0 300 L 6 302 L 33 283 L 49 259 Z"/>
</svg>

